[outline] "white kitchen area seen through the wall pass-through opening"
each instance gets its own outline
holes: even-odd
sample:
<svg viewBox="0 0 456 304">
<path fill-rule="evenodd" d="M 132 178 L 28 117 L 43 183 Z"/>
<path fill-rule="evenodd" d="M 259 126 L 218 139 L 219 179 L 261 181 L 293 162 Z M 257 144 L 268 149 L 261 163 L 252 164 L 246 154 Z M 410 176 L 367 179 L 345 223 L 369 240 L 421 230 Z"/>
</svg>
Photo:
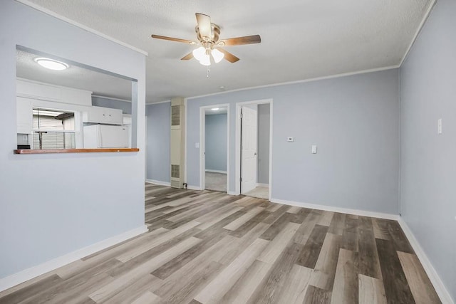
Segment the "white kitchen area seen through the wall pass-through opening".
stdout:
<svg viewBox="0 0 456 304">
<path fill-rule="evenodd" d="M 132 80 L 37 58 L 16 50 L 16 151 L 132 148 Z"/>
</svg>

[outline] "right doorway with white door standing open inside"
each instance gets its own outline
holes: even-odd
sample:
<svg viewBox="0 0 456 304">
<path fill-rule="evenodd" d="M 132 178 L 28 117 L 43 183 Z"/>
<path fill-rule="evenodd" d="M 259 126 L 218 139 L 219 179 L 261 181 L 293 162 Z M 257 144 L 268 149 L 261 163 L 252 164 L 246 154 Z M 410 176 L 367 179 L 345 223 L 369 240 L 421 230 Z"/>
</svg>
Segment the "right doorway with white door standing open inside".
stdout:
<svg viewBox="0 0 456 304">
<path fill-rule="evenodd" d="M 237 103 L 236 193 L 271 199 L 272 100 Z"/>
</svg>

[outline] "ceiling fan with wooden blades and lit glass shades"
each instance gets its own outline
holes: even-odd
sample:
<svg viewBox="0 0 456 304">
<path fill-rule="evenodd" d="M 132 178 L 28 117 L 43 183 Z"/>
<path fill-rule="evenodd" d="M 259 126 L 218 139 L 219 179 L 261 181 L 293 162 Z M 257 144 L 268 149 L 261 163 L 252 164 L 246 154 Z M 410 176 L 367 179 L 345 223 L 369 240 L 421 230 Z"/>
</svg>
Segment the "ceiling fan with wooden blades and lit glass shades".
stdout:
<svg viewBox="0 0 456 304">
<path fill-rule="evenodd" d="M 259 35 L 219 40 L 220 27 L 217 26 L 217 24 L 211 23 L 211 18 L 207 15 L 199 13 L 196 13 L 195 15 L 197 17 L 197 26 L 195 27 L 195 31 L 197 32 L 198 42 L 160 35 L 152 35 L 152 38 L 188 43 L 195 46 L 199 45 L 199 48 L 196 48 L 191 53 L 180 58 L 180 60 L 187 61 L 192 58 L 196 58 L 202 65 L 211 65 L 211 57 L 215 63 L 219 63 L 223 58 L 230 63 L 239 61 L 239 58 L 234 56 L 232 53 L 225 51 L 222 46 L 239 46 L 241 44 L 261 42 L 261 37 Z"/>
</svg>

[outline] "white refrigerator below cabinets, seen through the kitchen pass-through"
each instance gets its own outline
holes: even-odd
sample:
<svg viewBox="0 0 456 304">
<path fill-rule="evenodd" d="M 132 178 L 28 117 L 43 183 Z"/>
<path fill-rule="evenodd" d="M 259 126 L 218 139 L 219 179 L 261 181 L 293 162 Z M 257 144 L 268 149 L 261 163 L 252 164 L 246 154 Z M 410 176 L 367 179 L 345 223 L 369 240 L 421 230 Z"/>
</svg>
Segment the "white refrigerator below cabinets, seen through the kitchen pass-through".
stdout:
<svg viewBox="0 0 456 304">
<path fill-rule="evenodd" d="M 127 125 L 85 125 L 84 148 L 128 148 L 130 128 Z"/>
</svg>

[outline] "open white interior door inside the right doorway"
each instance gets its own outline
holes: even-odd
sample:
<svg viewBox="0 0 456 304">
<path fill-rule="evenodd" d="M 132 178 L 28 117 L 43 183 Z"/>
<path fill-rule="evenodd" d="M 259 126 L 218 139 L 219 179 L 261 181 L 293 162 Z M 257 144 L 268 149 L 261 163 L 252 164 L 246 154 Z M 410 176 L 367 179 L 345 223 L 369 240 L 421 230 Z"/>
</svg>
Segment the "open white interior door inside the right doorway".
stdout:
<svg viewBox="0 0 456 304">
<path fill-rule="evenodd" d="M 257 110 L 242 107 L 241 192 L 257 187 Z"/>
</svg>

